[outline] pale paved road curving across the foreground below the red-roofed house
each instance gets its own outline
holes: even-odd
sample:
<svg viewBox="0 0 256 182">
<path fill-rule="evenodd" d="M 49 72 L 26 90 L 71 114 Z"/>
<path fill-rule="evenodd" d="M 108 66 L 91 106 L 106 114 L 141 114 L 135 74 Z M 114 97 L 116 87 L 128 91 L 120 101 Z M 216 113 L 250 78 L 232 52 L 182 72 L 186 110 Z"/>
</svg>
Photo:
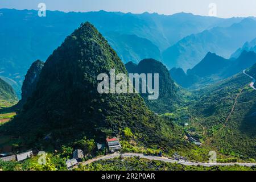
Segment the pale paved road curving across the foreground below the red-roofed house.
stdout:
<svg viewBox="0 0 256 182">
<path fill-rule="evenodd" d="M 119 152 L 115 152 L 114 154 L 109 154 L 105 156 L 101 156 L 99 158 L 94 158 L 87 160 L 86 162 L 83 162 L 82 165 L 90 164 L 93 162 L 96 162 L 97 160 L 107 160 L 107 159 L 113 159 L 117 157 L 124 157 L 124 158 L 131 158 L 135 156 L 139 156 L 140 158 L 148 159 L 148 160 L 160 160 L 166 163 L 177 163 L 177 164 L 183 164 L 185 166 L 204 166 L 204 167 L 210 167 L 210 166 L 234 166 L 234 164 L 237 164 L 238 166 L 256 166 L 256 163 L 196 163 L 196 162 L 185 162 L 184 160 L 174 160 L 169 159 L 165 157 L 159 157 L 159 156 L 152 156 L 152 155 L 145 155 L 145 154 L 137 154 L 137 153 L 123 153 L 120 154 Z"/>
</svg>

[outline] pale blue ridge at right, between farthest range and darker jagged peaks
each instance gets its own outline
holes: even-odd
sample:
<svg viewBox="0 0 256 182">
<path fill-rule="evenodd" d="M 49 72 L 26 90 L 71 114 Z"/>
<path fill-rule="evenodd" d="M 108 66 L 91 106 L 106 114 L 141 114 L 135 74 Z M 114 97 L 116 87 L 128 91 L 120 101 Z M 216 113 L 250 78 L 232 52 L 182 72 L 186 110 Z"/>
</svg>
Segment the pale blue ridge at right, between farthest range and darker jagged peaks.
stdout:
<svg viewBox="0 0 256 182">
<path fill-rule="evenodd" d="M 256 21 L 246 18 L 230 27 L 214 27 L 181 39 L 163 52 L 163 61 L 169 68 L 187 70 L 199 63 L 207 52 L 229 58 L 238 47 L 255 37 Z"/>
</svg>

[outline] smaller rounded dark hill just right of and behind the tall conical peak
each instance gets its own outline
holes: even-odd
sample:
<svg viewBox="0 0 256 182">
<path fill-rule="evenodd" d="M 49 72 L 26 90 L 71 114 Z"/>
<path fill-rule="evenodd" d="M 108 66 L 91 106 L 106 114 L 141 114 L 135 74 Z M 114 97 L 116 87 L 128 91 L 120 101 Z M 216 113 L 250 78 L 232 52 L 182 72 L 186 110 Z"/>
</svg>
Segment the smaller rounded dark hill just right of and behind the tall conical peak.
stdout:
<svg viewBox="0 0 256 182">
<path fill-rule="evenodd" d="M 158 100 L 148 100 L 148 94 L 141 94 L 146 105 L 155 113 L 166 113 L 175 110 L 175 104 L 179 102 L 177 99 L 177 88 L 174 81 L 170 77 L 167 68 L 154 59 L 144 59 L 138 65 L 127 63 L 126 69 L 129 73 L 158 73 L 159 74 L 159 98 Z"/>
</svg>

